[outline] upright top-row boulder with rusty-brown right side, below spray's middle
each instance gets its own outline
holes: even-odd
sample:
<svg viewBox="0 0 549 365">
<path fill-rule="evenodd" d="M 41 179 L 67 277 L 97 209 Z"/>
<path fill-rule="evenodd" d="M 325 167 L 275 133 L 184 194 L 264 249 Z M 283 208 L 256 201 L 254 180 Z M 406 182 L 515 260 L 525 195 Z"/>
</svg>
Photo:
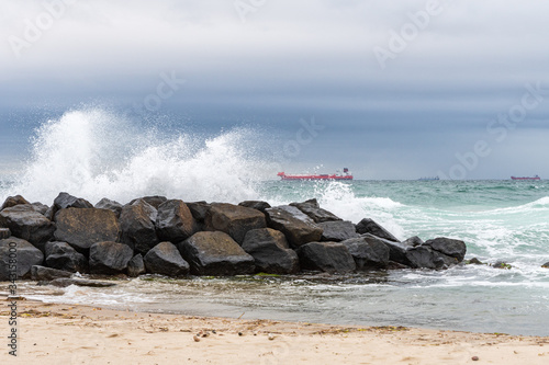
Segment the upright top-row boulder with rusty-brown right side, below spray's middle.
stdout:
<svg viewBox="0 0 549 365">
<path fill-rule="evenodd" d="M 197 223 L 183 201 L 166 201 L 158 207 L 156 231 L 160 240 L 179 243 L 197 231 Z"/>
</svg>

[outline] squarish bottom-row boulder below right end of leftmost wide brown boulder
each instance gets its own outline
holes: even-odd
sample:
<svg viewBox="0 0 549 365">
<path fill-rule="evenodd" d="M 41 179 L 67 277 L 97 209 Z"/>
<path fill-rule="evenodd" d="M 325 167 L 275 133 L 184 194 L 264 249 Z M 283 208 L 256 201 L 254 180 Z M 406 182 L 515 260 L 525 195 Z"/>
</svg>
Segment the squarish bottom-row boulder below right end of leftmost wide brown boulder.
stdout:
<svg viewBox="0 0 549 365">
<path fill-rule="evenodd" d="M 98 242 L 90 247 L 90 273 L 113 275 L 123 273 L 134 251 L 123 243 Z"/>
</svg>

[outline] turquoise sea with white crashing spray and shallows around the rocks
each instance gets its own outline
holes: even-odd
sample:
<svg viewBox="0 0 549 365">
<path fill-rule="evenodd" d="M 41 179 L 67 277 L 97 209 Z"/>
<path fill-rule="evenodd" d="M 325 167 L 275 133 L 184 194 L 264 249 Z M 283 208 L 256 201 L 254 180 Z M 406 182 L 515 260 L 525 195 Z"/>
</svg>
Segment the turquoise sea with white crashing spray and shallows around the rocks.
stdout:
<svg viewBox="0 0 549 365">
<path fill-rule="evenodd" d="M 70 111 L 33 132 L 18 169 L 0 171 L 0 201 L 22 194 L 51 205 L 63 191 L 93 204 L 145 195 L 271 205 L 314 197 L 344 219 L 372 218 L 402 240 L 463 240 L 466 260 L 485 264 L 347 275 L 145 275 L 109 288 L 21 282 L 20 295 L 189 316 L 549 335 L 549 269 L 541 267 L 549 262 L 549 181 L 279 181 L 281 161 L 250 148 L 254 138 L 246 128 L 214 137 L 164 134 L 103 110 Z M 511 269 L 491 266 L 497 261 Z"/>
</svg>

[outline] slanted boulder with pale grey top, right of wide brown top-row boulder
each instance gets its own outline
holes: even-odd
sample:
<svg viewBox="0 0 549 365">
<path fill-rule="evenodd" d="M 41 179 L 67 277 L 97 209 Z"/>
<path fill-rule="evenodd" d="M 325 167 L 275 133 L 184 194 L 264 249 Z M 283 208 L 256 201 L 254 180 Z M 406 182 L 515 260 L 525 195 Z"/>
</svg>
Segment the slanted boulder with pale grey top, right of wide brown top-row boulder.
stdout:
<svg viewBox="0 0 549 365">
<path fill-rule="evenodd" d="M 270 228 L 284 233 L 292 248 L 313 241 L 320 241 L 323 229 L 313 219 L 294 206 L 281 205 L 265 209 Z"/>
</svg>

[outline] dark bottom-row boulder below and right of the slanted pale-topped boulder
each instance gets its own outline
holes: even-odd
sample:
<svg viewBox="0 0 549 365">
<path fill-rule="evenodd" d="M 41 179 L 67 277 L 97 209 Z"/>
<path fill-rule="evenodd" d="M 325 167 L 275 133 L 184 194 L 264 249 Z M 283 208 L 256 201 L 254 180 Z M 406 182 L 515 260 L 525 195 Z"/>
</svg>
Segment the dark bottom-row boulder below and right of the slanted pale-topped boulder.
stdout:
<svg viewBox="0 0 549 365">
<path fill-rule="evenodd" d="M 302 269 L 348 273 L 357 267 L 347 247 L 339 242 L 310 242 L 296 251 Z"/>
</svg>

